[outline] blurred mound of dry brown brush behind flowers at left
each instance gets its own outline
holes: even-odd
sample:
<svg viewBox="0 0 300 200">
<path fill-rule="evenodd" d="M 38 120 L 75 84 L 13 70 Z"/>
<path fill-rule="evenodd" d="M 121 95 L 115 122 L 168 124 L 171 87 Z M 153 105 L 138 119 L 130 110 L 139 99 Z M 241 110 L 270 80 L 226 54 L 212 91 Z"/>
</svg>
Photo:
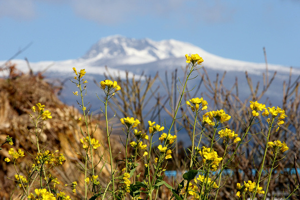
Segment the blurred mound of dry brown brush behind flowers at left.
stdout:
<svg viewBox="0 0 300 200">
<path fill-rule="evenodd" d="M 27 174 L 25 166 L 30 166 L 33 163 L 33 156 L 37 153 L 37 148 L 33 145 L 35 135 L 29 131 L 33 131 L 34 126 L 31 124 L 32 113 L 31 108 L 37 103 L 45 105 L 45 109 L 51 112 L 52 119 L 45 121 L 45 127 L 40 136 L 40 144 L 42 147 L 50 151 L 58 150 L 58 153 L 63 153 L 66 157 L 66 162 L 63 166 L 55 168 L 53 175 L 57 176 L 60 188 L 65 184 L 71 184 L 77 181 L 77 198 L 81 199 L 80 185 L 84 179 L 83 174 L 76 168 L 78 163 L 81 163 L 79 154 L 84 154 L 80 139 L 83 138 L 80 132 L 80 126 L 84 131 L 83 123 L 78 121 L 81 113 L 70 106 L 59 101 L 55 88 L 43 80 L 41 74 L 33 75 L 17 73 L 14 66 L 10 66 L 10 76 L 7 79 L 0 79 L 0 144 L 5 141 L 7 135 L 13 138 L 14 145 L 5 144 L 0 150 L 0 196 L 2 199 L 9 199 L 13 193 L 16 183 L 10 179 L 14 179 L 15 170 L 11 162 L 4 161 L 8 155 L 10 148 L 21 149 L 25 152 L 25 156 L 19 160 L 19 165 L 22 166 L 21 174 Z M 75 101 L 75 100 L 74 100 Z M 96 125 L 98 124 L 97 128 Z M 94 138 L 101 143 L 101 148 L 98 151 L 103 153 L 103 158 L 108 160 L 109 154 L 104 149 L 106 148 L 106 137 L 102 134 L 103 127 L 99 121 L 91 121 L 91 130 L 96 131 Z M 31 156 L 33 155 L 33 156 Z M 98 157 L 97 157 L 98 156 Z M 99 154 L 96 155 L 99 160 Z M 104 162 L 100 162 L 99 168 Z M 107 165 L 107 164 L 106 164 Z M 101 174 L 102 180 L 106 183 L 110 176 L 110 168 L 104 168 Z M 72 189 L 65 188 L 70 191 L 65 191 L 72 196 Z M 14 197 L 17 198 L 18 190 L 14 191 Z"/>
</svg>

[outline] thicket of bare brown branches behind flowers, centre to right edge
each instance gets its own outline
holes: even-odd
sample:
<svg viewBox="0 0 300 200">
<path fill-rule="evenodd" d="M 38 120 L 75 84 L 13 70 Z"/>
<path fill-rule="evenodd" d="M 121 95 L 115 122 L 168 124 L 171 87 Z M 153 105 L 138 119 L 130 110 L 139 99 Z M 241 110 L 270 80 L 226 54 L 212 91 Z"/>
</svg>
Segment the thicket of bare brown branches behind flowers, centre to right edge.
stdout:
<svg viewBox="0 0 300 200">
<path fill-rule="evenodd" d="M 184 73 L 187 73 L 187 68 L 183 69 Z M 231 116 L 231 120 L 228 123 L 225 123 L 224 126 L 228 125 L 229 128 L 234 129 L 235 132 L 241 136 L 245 131 L 245 124 L 249 123 L 250 114 L 249 114 L 249 101 L 258 101 L 260 103 L 266 104 L 266 107 L 279 106 L 283 108 L 288 116 L 285 119 L 285 123 L 282 125 L 282 128 L 277 132 L 273 132 L 270 138 L 270 141 L 281 140 L 285 141 L 288 144 L 290 150 L 285 152 L 284 155 L 281 155 L 280 158 L 285 156 L 278 163 L 276 171 L 273 173 L 272 177 L 274 179 L 271 181 L 269 186 L 269 193 L 271 196 L 282 196 L 294 190 L 295 185 L 298 183 L 298 177 L 295 174 L 295 169 L 299 168 L 300 161 L 296 159 L 295 156 L 298 155 L 300 149 L 300 94 L 299 94 L 299 78 L 292 81 L 292 69 L 290 71 L 290 77 L 287 82 L 283 82 L 283 99 L 282 105 L 272 105 L 270 101 L 262 100 L 267 99 L 266 93 L 271 86 L 272 82 L 275 80 L 276 72 L 271 78 L 269 78 L 269 72 L 266 70 L 266 73 L 263 74 L 262 80 L 257 83 L 253 83 L 251 76 L 248 73 L 245 73 L 245 80 L 249 86 L 250 94 L 247 98 L 239 96 L 239 88 L 237 77 L 235 83 L 228 87 L 224 85 L 223 81 L 226 77 L 226 72 L 222 76 L 217 74 L 216 79 L 213 80 L 212 77 L 209 77 L 204 68 L 198 70 L 199 79 L 198 85 L 192 91 L 185 94 L 185 101 L 194 97 L 203 97 L 209 102 L 208 110 L 220 110 L 223 109 Z M 171 75 L 171 77 L 169 77 Z M 132 116 L 137 119 L 141 119 L 141 129 L 146 130 L 147 127 L 144 127 L 142 124 L 143 119 L 152 120 L 153 117 L 157 117 L 159 124 L 163 123 L 161 120 L 161 112 L 164 110 L 170 118 L 174 115 L 174 105 L 178 101 L 178 91 L 177 85 L 178 76 L 177 70 L 171 74 L 165 75 L 164 80 L 158 75 L 151 78 L 146 77 L 145 81 L 141 81 L 140 78 L 128 78 L 122 80 L 121 78 L 115 78 L 110 76 L 110 79 L 115 79 L 119 85 L 123 88 L 121 95 L 114 99 L 114 109 L 121 111 L 120 117 Z M 168 80 L 169 79 L 169 80 Z M 161 95 L 157 88 L 151 88 L 154 85 L 154 82 L 160 81 L 161 86 L 165 88 L 164 95 Z M 263 83 L 262 85 L 260 83 Z M 203 89 L 204 88 L 204 89 Z M 190 88 L 191 89 L 191 88 Z M 200 93 L 202 89 L 205 92 Z M 279 91 L 280 92 L 280 91 Z M 147 108 L 151 112 L 142 112 L 146 107 L 148 102 L 155 102 L 152 108 Z M 261 102 L 264 101 L 264 102 Z M 171 108 L 173 109 L 170 109 Z M 186 109 L 185 106 L 181 108 L 182 115 L 185 117 L 178 118 L 176 120 L 176 125 L 174 125 L 174 134 L 181 134 L 183 131 L 177 127 L 184 127 L 189 136 L 191 136 L 191 124 L 188 123 L 188 118 L 190 116 L 190 110 Z M 201 120 L 199 118 L 199 120 Z M 181 131 L 181 132 L 179 132 Z M 223 188 L 219 192 L 218 199 L 232 199 L 232 196 L 235 196 L 236 193 L 236 183 L 243 183 L 248 180 L 256 180 L 258 171 L 262 162 L 262 156 L 265 146 L 265 138 L 261 133 L 266 134 L 267 124 L 263 121 L 257 121 L 257 124 L 251 126 L 250 133 L 251 135 L 246 138 L 246 141 L 249 143 L 242 146 L 239 149 L 238 153 L 240 155 L 235 156 L 233 162 L 231 162 L 229 170 L 227 171 L 228 177 L 223 181 Z M 200 132 L 200 128 L 198 129 Z M 205 145 L 205 139 L 202 140 L 203 145 Z M 177 171 L 177 180 L 182 179 L 182 174 L 186 172 L 188 165 L 186 156 L 188 151 L 183 149 L 182 143 L 177 143 L 176 148 L 173 151 L 174 156 L 172 161 L 169 161 L 169 170 Z M 224 153 L 224 145 L 219 141 L 214 146 L 215 150 L 222 155 Z M 234 148 L 234 147 L 232 147 Z M 218 154 L 219 154 L 218 153 Z M 271 152 L 269 152 L 271 153 Z M 268 156 L 267 156 L 268 157 Z M 295 159 L 295 162 L 294 162 Z M 265 171 L 268 171 L 269 164 L 271 159 L 268 157 L 265 163 Z M 263 185 L 266 181 L 267 173 L 262 175 L 264 181 L 260 184 Z M 279 177 L 276 179 L 276 177 Z M 299 191 L 296 191 L 296 194 L 300 194 Z M 293 198 L 297 198 L 295 195 Z"/>
</svg>

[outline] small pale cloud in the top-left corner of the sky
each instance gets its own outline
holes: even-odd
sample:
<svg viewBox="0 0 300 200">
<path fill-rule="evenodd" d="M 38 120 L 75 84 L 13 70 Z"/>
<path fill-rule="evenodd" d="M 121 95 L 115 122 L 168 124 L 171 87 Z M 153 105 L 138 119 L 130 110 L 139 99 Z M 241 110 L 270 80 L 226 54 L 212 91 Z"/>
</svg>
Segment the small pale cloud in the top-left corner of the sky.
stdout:
<svg viewBox="0 0 300 200">
<path fill-rule="evenodd" d="M 10 17 L 16 20 L 30 20 L 36 16 L 33 0 L 2 0 L 0 1 L 0 18 Z"/>
</svg>

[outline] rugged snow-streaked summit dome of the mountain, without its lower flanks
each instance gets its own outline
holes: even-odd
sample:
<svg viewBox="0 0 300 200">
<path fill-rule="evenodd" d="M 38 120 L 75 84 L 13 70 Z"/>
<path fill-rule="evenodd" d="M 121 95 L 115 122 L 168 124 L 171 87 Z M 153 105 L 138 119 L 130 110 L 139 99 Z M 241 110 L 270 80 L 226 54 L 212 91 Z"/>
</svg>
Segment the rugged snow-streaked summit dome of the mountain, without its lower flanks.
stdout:
<svg viewBox="0 0 300 200">
<path fill-rule="evenodd" d="M 205 51 L 189 43 L 176 40 L 153 41 L 147 38 L 134 39 L 116 35 L 98 41 L 82 58 L 96 61 L 118 57 L 126 58 L 127 61 L 133 64 L 131 62 L 133 59 L 130 59 L 130 57 L 136 58 L 137 63 L 146 63 L 167 58 L 184 57 L 186 53 L 196 52 L 200 54 Z M 207 52 L 205 53 L 207 54 Z"/>
</svg>

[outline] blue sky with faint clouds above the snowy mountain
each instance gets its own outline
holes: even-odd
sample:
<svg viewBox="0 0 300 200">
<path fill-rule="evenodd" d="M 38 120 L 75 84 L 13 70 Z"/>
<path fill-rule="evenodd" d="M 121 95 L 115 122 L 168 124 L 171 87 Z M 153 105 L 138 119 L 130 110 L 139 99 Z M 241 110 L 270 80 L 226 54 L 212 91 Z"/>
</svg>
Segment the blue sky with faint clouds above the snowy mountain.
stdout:
<svg viewBox="0 0 300 200">
<path fill-rule="evenodd" d="M 300 0 L 0 0 L 0 60 L 29 43 L 18 59 L 75 59 L 111 35 L 300 67 Z"/>
</svg>

